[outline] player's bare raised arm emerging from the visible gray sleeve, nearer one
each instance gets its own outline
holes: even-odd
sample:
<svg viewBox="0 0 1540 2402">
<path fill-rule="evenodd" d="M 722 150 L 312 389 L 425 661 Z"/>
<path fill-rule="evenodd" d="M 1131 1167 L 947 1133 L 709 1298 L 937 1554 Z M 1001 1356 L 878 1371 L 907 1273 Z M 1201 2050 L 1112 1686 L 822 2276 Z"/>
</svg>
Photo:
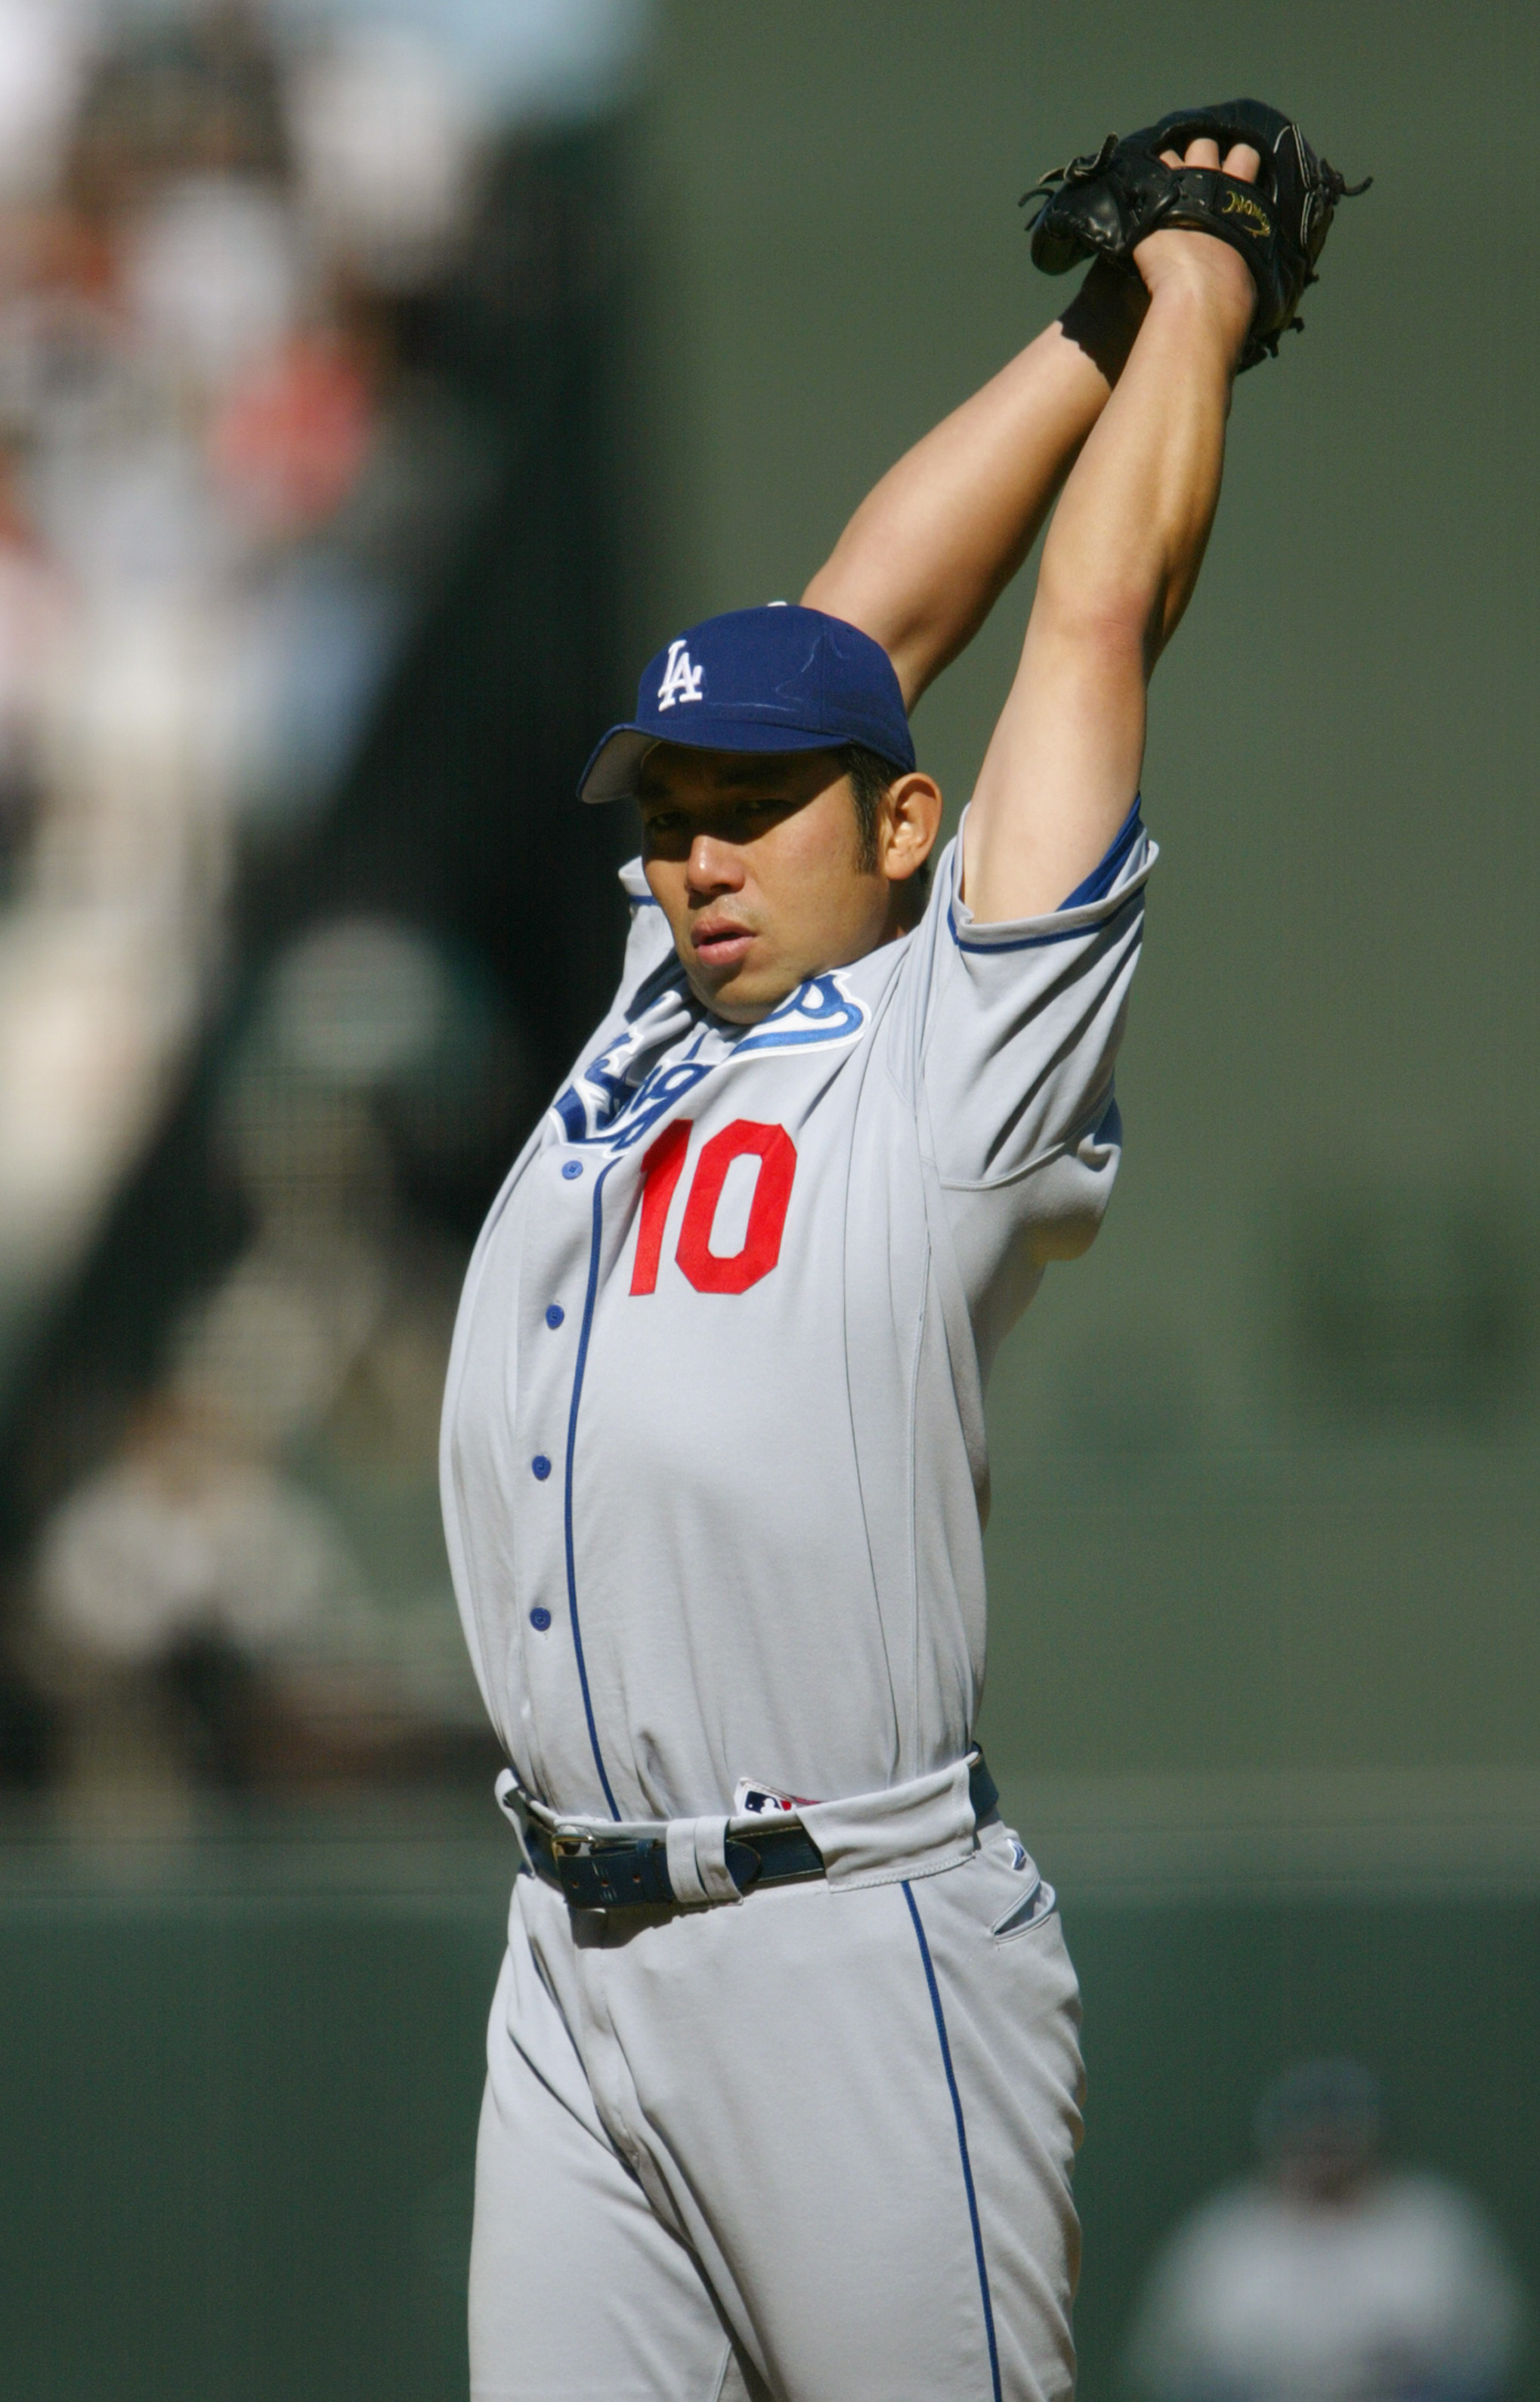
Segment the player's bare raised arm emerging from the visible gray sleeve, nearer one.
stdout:
<svg viewBox="0 0 1540 2402">
<path fill-rule="evenodd" d="M 1158 283 L 1043 552 L 1021 668 L 968 814 L 966 894 L 985 920 L 1055 908 L 1139 788 L 1146 680 L 1199 576 L 1249 322 L 1249 286 L 1223 259 L 1196 264 Z"/>
</svg>

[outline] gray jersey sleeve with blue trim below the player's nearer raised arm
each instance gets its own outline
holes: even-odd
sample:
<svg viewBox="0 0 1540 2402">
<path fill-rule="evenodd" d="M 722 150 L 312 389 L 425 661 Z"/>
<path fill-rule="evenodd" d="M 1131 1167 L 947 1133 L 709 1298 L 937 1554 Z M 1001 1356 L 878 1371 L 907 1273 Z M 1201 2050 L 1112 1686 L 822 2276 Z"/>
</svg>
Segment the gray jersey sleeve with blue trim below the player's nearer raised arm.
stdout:
<svg viewBox="0 0 1540 2402">
<path fill-rule="evenodd" d="M 985 1357 L 1047 1261 L 1079 1256 L 1103 1220 L 1122 1155 L 1112 1066 L 1153 865 L 1139 805 L 1096 874 L 1043 918 L 973 920 L 961 833 L 937 865 L 906 963 L 911 1074 Z"/>
</svg>

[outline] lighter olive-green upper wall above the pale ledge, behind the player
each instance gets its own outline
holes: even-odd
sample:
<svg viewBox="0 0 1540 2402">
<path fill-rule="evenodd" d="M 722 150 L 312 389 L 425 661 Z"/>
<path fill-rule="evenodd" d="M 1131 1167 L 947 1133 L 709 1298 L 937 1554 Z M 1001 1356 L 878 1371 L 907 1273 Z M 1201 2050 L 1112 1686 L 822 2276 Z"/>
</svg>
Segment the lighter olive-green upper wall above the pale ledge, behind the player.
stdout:
<svg viewBox="0 0 1540 2402">
<path fill-rule="evenodd" d="M 995 1376 L 1011 1765 L 1540 1765 L 1538 38 L 1372 0 L 663 17 L 639 651 L 795 593 L 1062 305 L 1009 207 L 1043 166 L 1261 91 L 1374 173 L 1305 336 L 1237 387 L 1153 694 L 1117 1206 Z M 1478 151 L 1492 240 L 1451 204 Z M 959 805 L 1026 598 L 915 718 Z"/>
</svg>

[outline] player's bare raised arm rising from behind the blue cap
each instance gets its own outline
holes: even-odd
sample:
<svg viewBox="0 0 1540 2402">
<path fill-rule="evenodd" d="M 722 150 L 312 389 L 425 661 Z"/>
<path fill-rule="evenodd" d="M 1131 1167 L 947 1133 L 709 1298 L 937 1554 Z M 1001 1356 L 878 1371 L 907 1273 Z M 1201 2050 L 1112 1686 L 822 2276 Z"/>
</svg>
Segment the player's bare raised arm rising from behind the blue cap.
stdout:
<svg viewBox="0 0 1540 2402">
<path fill-rule="evenodd" d="M 884 646 L 911 709 L 1026 560 L 1141 310 L 1127 279 L 1093 269 L 1047 331 L 882 478 L 802 593 Z"/>
</svg>

